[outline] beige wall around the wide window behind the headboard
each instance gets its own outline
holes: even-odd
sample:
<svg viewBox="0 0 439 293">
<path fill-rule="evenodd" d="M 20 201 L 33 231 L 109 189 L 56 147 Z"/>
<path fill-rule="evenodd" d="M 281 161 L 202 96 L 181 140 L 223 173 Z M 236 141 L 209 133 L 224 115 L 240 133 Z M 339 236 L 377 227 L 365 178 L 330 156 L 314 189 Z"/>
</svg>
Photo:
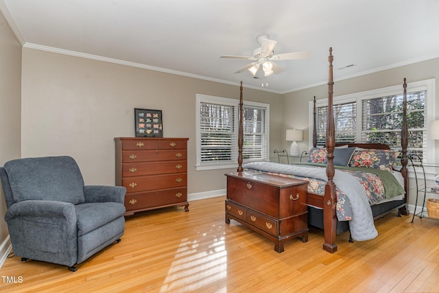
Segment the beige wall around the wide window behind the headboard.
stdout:
<svg viewBox="0 0 439 293">
<path fill-rule="evenodd" d="M 334 60 L 337 56 L 335 55 Z M 335 66 L 336 67 L 336 66 Z M 364 92 L 366 90 L 375 90 L 388 86 L 397 86 L 403 84 L 403 79 L 407 78 L 407 84 L 414 81 L 425 79 L 436 79 L 436 120 L 439 119 L 439 58 L 418 62 L 407 66 L 392 68 L 378 73 L 372 73 L 337 81 L 337 71 L 334 71 L 335 84 L 333 86 L 334 97 L 355 92 Z M 316 86 L 305 90 L 298 90 L 283 95 L 283 119 L 285 127 L 296 127 L 305 129 L 304 141 L 299 143 L 300 151 L 307 150 L 311 145 L 308 144 L 308 109 L 309 101 L 312 101 L 314 95 L 316 99 L 325 99 L 328 97 L 328 86 Z M 312 125 L 311 125 L 312 126 Z M 306 137 L 305 137 L 306 136 Z M 285 142 L 286 145 L 287 142 Z M 439 157 L 439 142 L 436 142 L 436 160 Z M 436 170 L 439 172 L 439 170 Z M 414 181 L 410 181 L 413 188 Z M 416 193 L 410 192 L 409 203 L 414 205 Z M 419 205 L 419 204 L 418 204 Z"/>
</svg>

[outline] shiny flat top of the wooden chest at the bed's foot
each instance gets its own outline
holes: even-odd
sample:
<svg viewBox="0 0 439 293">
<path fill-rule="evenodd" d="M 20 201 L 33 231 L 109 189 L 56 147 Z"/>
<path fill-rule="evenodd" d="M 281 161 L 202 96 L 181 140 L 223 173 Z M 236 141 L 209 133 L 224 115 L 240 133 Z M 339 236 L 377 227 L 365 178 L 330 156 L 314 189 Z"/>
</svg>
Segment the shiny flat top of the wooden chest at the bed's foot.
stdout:
<svg viewBox="0 0 439 293">
<path fill-rule="evenodd" d="M 235 173 L 226 173 L 227 177 L 234 177 L 241 180 L 254 181 L 258 183 L 265 183 L 278 188 L 287 188 L 289 186 L 297 186 L 301 184 L 307 184 L 308 181 L 282 177 L 278 175 L 271 175 L 259 171 L 244 171 Z"/>
</svg>

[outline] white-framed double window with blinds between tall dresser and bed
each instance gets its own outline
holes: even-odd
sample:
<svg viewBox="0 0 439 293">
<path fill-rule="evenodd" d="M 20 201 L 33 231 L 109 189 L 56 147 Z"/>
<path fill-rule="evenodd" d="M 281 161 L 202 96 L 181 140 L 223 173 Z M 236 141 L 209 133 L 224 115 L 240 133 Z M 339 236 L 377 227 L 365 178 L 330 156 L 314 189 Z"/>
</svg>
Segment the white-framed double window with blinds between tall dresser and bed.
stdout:
<svg viewBox="0 0 439 293">
<path fill-rule="evenodd" d="M 197 170 L 233 168 L 238 159 L 239 101 L 197 94 Z M 268 104 L 244 102 L 243 159 L 268 160 Z"/>
</svg>

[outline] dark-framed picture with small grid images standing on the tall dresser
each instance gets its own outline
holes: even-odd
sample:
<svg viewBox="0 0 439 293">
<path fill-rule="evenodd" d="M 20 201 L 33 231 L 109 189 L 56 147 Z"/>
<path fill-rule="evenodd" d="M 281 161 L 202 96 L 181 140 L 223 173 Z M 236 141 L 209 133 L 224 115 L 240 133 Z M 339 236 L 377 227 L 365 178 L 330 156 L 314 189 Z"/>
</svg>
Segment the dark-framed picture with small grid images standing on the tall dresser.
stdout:
<svg viewBox="0 0 439 293">
<path fill-rule="evenodd" d="M 137 138 L 163 138 L 161 110 L 134 108 L 134 123 Z"/>
</svg>

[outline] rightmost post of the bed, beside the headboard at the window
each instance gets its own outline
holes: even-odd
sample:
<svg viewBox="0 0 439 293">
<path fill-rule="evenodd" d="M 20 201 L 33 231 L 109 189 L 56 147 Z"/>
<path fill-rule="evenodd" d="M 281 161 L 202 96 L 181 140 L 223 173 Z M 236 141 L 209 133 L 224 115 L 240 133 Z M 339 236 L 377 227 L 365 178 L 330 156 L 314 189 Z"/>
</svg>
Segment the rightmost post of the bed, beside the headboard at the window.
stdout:
<svg viewBox="0 0 439 293">
<path fill-rule="evenodd" d="M 405 216 L 407 216 L 409 214 L 408 209 L 407 209 L 407 204 L 408 204 L 408 192 L 409 192 L 409 188 L 408 188 L 408 182 L 409 182 L 409 175 L 408 175 L 408 170 L 407 170 L 407 145 L 408 145 L 408 140 L 409 140 L 409 135 L 408 135 L 408 126 L 407 126 L 407 84 L 405 82 L 405 78 L 404 78 L 404 84 L 403 84 L 403 88 L 404 88 L 404 94 L 403 94 L 403 124 L 401 126 L 401 149 L 402 151 L 402 155 L 403 157 L 401 158 L 401 175 L 403 175 L 404 178 L 404 190 L 405 190 L 405 205 L 403 207 L 399 208 L 399 212 Z"/>
</svg>

